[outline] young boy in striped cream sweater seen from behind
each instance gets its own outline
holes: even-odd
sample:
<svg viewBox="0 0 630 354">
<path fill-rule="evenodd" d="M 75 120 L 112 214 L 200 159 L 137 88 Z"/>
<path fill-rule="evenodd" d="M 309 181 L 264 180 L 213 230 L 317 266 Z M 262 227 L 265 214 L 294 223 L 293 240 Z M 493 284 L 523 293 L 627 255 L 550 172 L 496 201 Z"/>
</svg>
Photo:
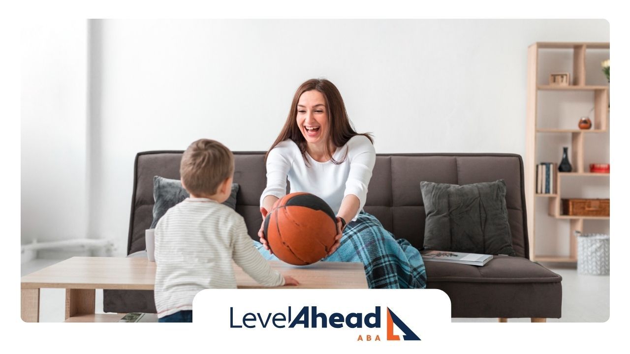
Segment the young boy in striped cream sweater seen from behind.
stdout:
<svg viewBox="0 0 630 354">
<path fill-rule="evenodd" d="M 272 270 L 254 248 L 241 215 L 225 202 L 234 156 L 200 139 L 181 157 L 181 185 L 190 198 L 170 208 L 155 230 L 155 300 L 159 322 L 192 322 L 193 298 L 207 288 L 236 288 L 232 260 L 268 287 L 298 285 Z"/>
</svg>

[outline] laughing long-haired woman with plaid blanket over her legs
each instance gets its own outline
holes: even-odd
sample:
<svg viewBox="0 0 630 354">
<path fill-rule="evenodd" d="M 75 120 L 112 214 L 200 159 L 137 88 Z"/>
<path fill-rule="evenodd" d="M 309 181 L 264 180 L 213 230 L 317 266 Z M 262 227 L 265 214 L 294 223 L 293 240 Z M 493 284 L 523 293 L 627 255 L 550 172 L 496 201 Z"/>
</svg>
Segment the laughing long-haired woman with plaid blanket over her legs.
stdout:
<svg viewBox="0 0 630 354">
<path fill-rule="evenodd" d="M 417 249 L 396 241 L 373 215 L 363 211 L 376 154 L 372 137 L 352 128 L 333 83 L 311 79 L 293 98 L 287 121 L 266 155 L 267 186 L 260 197 L 265 219 L 273 203 L 291 192 L 322 198 L 337 215 L 335 244 L 324 261 L 364 263 L 370 288 L 424 288 L 427 276 Z M 276 259 L 258 231 L 259 251 Z"/>
</svg>

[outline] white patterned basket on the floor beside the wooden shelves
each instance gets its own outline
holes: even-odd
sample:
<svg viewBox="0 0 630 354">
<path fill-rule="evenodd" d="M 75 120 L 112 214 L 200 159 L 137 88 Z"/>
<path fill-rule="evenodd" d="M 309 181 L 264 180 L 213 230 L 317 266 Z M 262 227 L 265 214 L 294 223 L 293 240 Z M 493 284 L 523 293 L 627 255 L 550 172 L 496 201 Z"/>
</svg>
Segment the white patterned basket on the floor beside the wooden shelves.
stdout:
<svg viewBox="0 0 630 354">
<path fill-rule="evenodd" d="M 582 234 L 578 237 L 578 274 L 610 274 L 610 236 L 607 234 Z"/>
</svg>

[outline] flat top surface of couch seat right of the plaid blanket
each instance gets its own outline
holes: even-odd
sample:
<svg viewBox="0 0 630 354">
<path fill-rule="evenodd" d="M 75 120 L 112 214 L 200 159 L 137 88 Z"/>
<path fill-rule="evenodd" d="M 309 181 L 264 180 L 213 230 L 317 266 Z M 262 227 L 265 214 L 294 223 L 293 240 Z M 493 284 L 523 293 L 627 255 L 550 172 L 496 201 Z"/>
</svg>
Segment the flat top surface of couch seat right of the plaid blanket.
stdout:
<svg viewBox="0 0 630 354">
<path fill-rule="evenodd" d="M 427 282 L 559 283 L 562 277 L 521 257 L 493 256 L 484 266 L 425 262 Z"/>
</svg>

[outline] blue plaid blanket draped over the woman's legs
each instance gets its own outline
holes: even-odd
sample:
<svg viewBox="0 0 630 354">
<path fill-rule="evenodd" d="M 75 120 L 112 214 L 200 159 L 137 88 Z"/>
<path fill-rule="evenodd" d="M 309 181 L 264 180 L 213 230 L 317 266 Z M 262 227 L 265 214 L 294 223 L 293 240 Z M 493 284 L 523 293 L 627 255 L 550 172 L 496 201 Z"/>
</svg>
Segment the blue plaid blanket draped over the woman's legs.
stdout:
<svg viewBox="0 0 630 354">
<path fill-rule="evenodd" d="M 253 242 L 266 260 L 278 260 L 261 243 Z M 394 239 L 374 215 L 366 212 L 346 226 L 339 248 L 323 261 L 363 263 L 370 288 L 427 287 L 427 272 L 418 249 L 406 239 Z"/>
</svg>

